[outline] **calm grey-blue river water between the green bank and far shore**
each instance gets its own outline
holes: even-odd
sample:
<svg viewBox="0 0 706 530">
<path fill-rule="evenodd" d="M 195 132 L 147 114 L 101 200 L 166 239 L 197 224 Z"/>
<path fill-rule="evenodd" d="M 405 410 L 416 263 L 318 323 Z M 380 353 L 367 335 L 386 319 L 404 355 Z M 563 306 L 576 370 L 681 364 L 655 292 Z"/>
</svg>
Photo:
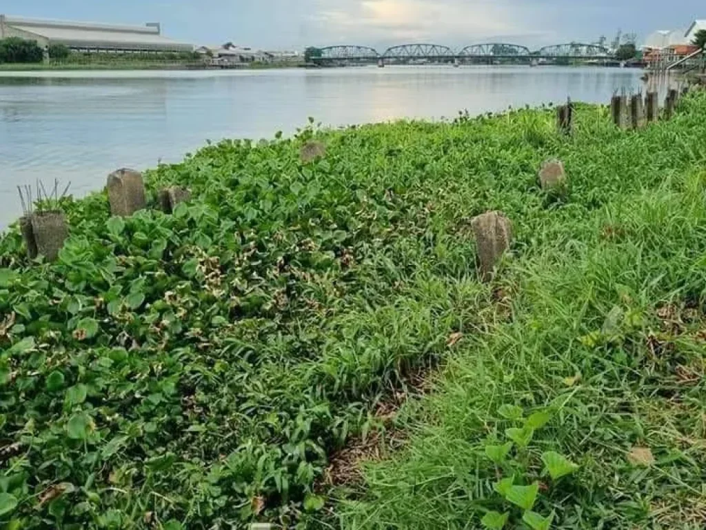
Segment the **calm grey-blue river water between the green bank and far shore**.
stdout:
<svg viewBox="0 0 706 530">
<path fill-rule="evenodd" d="M 79 196 L 118 167 L 178 161 L 207 139 L 273 138 L 325 125 L 439 119 L 508 105 L 608 102 L 641 71 L 527 66 L 323 70 L 0 72 L 0 227 L 16 186 L 71 181 Z"/>
</svg>

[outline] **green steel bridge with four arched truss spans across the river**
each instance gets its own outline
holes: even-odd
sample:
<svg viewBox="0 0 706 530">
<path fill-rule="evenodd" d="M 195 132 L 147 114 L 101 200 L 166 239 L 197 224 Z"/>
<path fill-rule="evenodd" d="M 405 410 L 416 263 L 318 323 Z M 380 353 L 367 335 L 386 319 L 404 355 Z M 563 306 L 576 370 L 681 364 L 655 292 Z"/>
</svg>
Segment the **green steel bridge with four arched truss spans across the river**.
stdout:
<svg viewBox="0 0 706 530">
<path fill-rule="evenodd" d="M 563 45 L 545 46 L 532 51 L 526 46 L 513 45 L 505 42 L 489 42 L 466 46 L 454 50 L 448 46 L 434 44 L 409 44 L 393 46 L 379 53 L 367 46 L 328 46 L 318 48 L 318 57 L 311 57 L 315 63 L 390 63 L 390 62 L 454 62 L 454 61 L 492 61 L 493 59 L 515 59 L 517 61 L 532 61 L 534 59 L 584 59 L 611 60 L 614 59 L 610 50 L 598 46 L 578 42 Z"/>
</svg>

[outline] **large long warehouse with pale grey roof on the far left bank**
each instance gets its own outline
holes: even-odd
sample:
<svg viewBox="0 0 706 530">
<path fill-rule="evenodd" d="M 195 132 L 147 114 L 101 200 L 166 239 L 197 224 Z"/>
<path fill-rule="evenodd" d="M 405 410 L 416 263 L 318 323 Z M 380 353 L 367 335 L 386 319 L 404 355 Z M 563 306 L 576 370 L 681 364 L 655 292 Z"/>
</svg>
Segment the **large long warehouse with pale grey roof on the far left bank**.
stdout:
<svg viewBox="0 0 706 530">
<path fill-rule="evenodd" d="M 36 40 L 46 48 L 66 45 L 80 52 L 191 52 L 193 46 L 162 35 L 159 23 L 107 25 L 0 15 L 0 38 Z"/>
</svg>

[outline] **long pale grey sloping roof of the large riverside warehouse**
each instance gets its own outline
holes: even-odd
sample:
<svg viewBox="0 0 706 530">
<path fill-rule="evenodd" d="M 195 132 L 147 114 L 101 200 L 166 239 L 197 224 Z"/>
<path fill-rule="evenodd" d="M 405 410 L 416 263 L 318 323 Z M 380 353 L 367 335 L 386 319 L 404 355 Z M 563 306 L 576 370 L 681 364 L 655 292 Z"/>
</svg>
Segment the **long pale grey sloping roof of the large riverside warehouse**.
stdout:
<svg viewBox="0 0 706 530">
<path fill-rule="evenodd" d="M 6 16 L 5 23 L 11 28 L 73 47 L 192 49 L 189 44 L 160 35 L 158 24 L 145 26 L 107 25 L 9 16 Z"/>
</svg>

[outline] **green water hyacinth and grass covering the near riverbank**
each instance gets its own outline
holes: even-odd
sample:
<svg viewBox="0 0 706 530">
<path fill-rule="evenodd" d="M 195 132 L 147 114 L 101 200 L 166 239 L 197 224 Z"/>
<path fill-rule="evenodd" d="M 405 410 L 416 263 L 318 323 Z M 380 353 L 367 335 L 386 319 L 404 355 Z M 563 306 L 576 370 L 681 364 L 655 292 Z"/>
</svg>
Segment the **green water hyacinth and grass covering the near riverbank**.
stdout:
<svg viewBox="0 0 706 530">
<path fill-rule="evenodd" d="M 635 131 L 573 112 L 208 145 L 133 216 L 61 199 L 52 264 L 13 225 L 0 523 L 702 528 L 706 93 Z"/>
</svg>

